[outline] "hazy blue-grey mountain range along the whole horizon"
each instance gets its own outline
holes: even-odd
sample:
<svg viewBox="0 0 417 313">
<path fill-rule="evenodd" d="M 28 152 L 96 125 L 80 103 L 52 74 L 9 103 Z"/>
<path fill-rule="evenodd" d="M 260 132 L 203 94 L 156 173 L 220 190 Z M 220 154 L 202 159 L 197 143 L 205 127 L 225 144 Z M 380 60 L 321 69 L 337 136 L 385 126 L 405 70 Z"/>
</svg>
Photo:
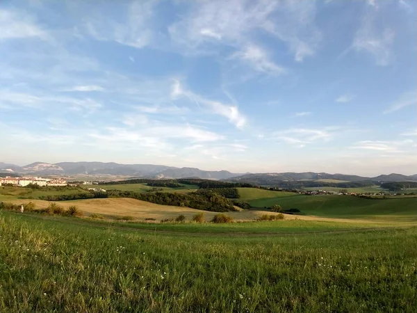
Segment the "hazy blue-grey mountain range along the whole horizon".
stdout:
<svg viewBox="0 0 417 313">
<path fill-rule="evenodd" d="M 177 168 L 153 164 L 120 164 L 103 162 L 35 162 L 26 166 L 0 162 L 0 172 L 31 175 L 123 175 L 147 178 L 185 178 L 199 177 L 203 179 L 223 179 L 233 182 L 249 182 L 250 184 L 273 184 L 274 182 L 297 182 L 302 180 L 317 181 L 320 179 L 335 179 L 338 181 L 362 182 L 367 180 L 377 182 L 417 181 L 416 175 L 379 175 L 377 177 L 362 177 L 358 175 L 328 174 L 325 172 L 272 172 L 259 174 L 238 174 L 227 170 L 199 170 L 198 168 Z"/>
</svg>

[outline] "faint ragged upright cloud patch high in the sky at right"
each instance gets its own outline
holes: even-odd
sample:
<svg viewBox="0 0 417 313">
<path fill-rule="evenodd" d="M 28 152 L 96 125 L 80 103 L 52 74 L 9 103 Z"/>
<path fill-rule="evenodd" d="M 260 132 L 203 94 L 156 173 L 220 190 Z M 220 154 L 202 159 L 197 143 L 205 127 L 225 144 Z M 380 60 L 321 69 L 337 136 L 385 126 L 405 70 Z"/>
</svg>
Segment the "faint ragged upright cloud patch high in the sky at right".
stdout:
<svg viewBox="0 0 417 313">
<path fill-rule="evenodd" d="M 386 66 L 392 61 L 392 45 L 395 33 L 389 27 L 377 29 L 374 16 L 365 15 L 361 27 L 354 36 L 352 48 L 373 55 L 377 65 Z"/>
</svg>

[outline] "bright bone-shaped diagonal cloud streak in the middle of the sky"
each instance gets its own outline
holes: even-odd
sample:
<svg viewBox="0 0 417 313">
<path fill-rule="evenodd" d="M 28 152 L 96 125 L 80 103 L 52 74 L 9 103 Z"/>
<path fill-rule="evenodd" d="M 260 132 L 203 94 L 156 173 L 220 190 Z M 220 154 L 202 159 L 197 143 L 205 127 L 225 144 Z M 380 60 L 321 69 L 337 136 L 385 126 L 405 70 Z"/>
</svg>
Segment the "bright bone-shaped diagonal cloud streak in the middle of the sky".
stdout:
<svg viewBox="0 0 417 313">
<path fill-rule="evenodd" d="M 234 124 L 238 129 L 245 127 L 246 118 L 240 113 L 238 106 L 236 105 L 223 104 L 222 102 L 206 99 L 190 90 L 184 90 L 178 80 L 174 80 L 174 83 L 172 84 L 171 95 L 174 98 L 178 98 L 181 95 L 186 96 L 193 102 L 196 102 L 197 105 L 204 104 L 213 114 L 222 115 L 228 118 L 229 122 Z"/>
</svg>

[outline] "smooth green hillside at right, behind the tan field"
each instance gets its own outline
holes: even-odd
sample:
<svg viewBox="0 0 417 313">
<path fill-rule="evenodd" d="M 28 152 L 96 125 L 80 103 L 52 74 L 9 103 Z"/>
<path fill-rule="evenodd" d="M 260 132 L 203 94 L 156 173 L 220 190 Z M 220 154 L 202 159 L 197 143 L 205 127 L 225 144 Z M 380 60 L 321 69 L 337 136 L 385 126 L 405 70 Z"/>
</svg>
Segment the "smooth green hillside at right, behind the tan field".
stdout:
<svg viewBox="0 0 417 313">
<path fill-rule="evenodd" d="M 304 214 L 331 218 L 417 220 L 417 198 L 365 199 L 350 195 L 300 195 L 292 198 L 252 200 L 254 207 L 279 204 Z"/>
</svg>

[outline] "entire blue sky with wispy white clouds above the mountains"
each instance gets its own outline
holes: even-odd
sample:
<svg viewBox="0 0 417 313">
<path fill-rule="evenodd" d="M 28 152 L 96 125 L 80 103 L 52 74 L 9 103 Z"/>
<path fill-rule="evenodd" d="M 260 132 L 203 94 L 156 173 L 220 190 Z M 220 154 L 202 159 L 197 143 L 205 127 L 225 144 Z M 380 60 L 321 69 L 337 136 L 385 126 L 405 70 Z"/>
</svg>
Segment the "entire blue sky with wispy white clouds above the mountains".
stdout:
<svg viewBox="0 0 417 313">
<path fill-rule="evenodd" d="M 0 1 L 0 161 L 417 174 L 416 10 Z"/>
</svg>

